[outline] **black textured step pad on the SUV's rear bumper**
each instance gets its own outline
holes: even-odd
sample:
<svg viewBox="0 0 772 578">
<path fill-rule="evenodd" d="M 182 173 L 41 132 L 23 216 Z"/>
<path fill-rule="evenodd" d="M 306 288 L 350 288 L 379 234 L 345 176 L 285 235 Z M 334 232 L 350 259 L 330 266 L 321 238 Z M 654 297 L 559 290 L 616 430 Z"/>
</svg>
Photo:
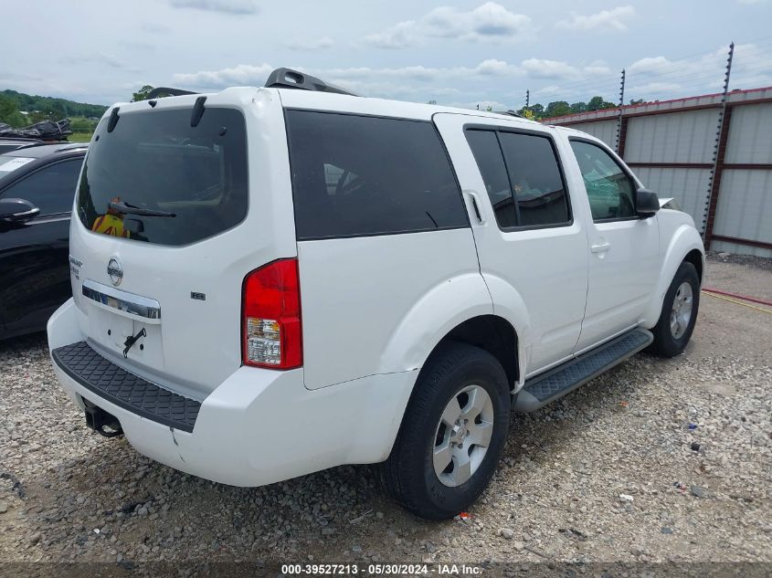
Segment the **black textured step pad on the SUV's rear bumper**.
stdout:
<svg viewBox="0 0 772 578">
<path fill-rule="evenodd" d="M 164 426 L 193 431 L 200 402 L 127 372 L 95 352 L 87 342 L 65 345 L 51 354 L 72 379 L 111 404 Z"/>
</svg>

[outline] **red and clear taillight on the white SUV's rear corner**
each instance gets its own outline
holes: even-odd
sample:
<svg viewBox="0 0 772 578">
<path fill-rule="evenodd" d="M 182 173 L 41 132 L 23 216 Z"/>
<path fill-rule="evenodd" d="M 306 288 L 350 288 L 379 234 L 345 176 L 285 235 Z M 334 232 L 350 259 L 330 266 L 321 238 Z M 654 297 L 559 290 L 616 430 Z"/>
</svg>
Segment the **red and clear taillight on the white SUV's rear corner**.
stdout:
<svg viewBox="0 0 772 578">
<path fill-rule="evenodd" d="M 241 298 L 245 365 L 292 369 L 303 363 L 298 259 L 280 259 L 244 278 Z"/>
</svg>

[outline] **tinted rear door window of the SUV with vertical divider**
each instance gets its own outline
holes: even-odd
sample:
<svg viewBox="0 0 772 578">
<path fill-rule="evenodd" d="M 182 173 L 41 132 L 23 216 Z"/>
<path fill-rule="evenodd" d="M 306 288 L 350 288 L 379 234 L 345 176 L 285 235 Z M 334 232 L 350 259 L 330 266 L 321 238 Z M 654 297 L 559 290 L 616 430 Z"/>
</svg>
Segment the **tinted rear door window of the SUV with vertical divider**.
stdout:
<svg viewBox="0 0 772 578">
<path fill-rule="evenodd" d="M 475 129 L 466 136 L 499 227 L 571 223 L 566 185 L 548 137 Z"/>
</svg>

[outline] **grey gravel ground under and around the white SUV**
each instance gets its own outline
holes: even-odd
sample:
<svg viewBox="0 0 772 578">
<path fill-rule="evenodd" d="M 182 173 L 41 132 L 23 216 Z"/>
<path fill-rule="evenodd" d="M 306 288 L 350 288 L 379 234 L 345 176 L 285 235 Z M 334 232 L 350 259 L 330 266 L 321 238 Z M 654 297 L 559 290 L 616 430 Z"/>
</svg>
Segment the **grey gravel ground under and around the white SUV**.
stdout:
<svg viewBox="0 0 772 578">
<path fill-rule="evenodd" d="M 706 285 L 772 299 L 762 259 Z M 703 294 L 687 352 L 640 354 L 516 415 L 468 520 L 388 502 L 368 467 L 238 489 L 90 433 L 43 336 L 0 343 L 0 562 L 772 562 L 772 315 Z"/>
</svg>

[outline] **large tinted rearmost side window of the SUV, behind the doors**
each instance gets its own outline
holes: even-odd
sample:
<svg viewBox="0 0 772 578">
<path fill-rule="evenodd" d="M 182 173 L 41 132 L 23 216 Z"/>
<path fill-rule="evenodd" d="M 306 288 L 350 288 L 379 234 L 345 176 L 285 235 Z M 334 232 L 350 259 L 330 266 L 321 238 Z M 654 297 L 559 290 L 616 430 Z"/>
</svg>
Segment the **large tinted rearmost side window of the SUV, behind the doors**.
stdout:
<svg viewBox="0 0 772 578">
<path fill-rule="evenodd" d="M 287 110 L 298 240 L 469 226 L 430 122 Z"/>
</svg>

